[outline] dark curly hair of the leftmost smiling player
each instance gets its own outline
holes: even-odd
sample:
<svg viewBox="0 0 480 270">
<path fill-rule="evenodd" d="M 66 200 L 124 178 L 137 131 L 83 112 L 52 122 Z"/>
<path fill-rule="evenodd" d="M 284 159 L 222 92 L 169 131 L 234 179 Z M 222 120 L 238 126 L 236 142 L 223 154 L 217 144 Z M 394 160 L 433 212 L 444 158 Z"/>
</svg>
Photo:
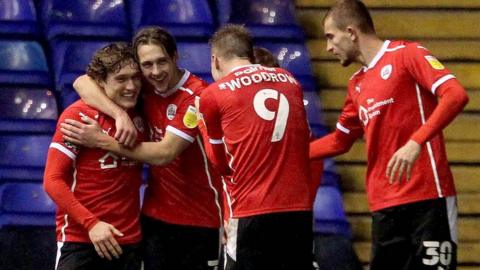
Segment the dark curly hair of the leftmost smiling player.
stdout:
<svg viewBox="0 0 480 270">
<path fill-rule="evenodd" d="M 95 52 L 87 74 L 96 81 L 105 81 L 108 74 L 117 73 L 126 65 L 137 67 L 132 47 L 126 42 L 114 42 Z"/>
</svg>

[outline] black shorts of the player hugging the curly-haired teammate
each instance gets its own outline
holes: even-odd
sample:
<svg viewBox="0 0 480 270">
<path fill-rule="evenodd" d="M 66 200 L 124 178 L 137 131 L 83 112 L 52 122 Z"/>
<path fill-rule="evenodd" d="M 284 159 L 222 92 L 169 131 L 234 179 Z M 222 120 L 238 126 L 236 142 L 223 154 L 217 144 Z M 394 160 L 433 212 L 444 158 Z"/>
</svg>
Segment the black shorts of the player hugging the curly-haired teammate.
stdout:
<svg viewBox="0 0 480 270">
<path fill-rule="evenodd" d="M 169 224 L 141 217 L 145 270 L 214 270 L 219 229 Z"/>
</svg>

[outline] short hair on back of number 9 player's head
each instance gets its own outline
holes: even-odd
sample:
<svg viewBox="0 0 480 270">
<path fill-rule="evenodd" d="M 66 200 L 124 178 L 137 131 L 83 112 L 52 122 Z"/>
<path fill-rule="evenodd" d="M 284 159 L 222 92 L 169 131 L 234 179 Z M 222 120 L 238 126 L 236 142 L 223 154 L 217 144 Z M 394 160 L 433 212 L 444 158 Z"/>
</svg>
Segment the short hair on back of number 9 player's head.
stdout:
<svg viewBox="0 0 480 270">
<path fill-rule="evenodd" d="M 220 28 L 209 41 L 212 49 L 225 57 L 246 58 L 254 62 L 253 38 L 243 25 L 228 24 Z"/>
</svg>

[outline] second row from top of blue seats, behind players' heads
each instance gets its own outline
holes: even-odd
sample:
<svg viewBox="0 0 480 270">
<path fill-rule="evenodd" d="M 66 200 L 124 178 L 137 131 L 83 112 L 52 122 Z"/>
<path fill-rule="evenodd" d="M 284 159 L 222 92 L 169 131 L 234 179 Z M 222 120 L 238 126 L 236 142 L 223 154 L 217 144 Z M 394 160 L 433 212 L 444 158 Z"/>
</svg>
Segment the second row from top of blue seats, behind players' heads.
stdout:
<svg viewBox="0 0 480 270">
<path fill-rule="evenodd" d="M 73 80 L 84 74 L 94 52 L 105 46 L 107 40 L 58 41 L 52 43 L 51 58 L 55 89 L 61 94 L 63 105 L 71 103 Z M 305 91 L 315 91 L 310 57 L 302 43 L 259 42 L 270 49 L 282 67 L 291 71 Z M 205 42 L 178 42 L 179 65 L 212 81 L 210 76 L 210 48 Z M 35 41 L 0 40 L 0 85 L 49 87 L 49 73 L 44 51 Z M 64 92 L 64 90 L 66 92 Z M 74 98 L 77 98 L 76 96 Z"/>
</svg>

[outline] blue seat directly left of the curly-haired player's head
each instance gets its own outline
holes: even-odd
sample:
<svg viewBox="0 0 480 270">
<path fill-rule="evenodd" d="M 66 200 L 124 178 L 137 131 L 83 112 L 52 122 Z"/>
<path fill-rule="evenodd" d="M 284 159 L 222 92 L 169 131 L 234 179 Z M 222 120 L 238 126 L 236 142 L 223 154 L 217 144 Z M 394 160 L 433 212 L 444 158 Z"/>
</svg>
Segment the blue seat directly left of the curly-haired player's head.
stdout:
<svg viewBox="0 0 480 270">
<path fill-rule="evenodd" d="M 107 45 L 107 41 L 61 41 L 54 43 L 53 69 L 55 88 L 59 93 L 62 109 L 78 99 L 72 83 L 86 69 L 95 52 Z"/>
</svg>

